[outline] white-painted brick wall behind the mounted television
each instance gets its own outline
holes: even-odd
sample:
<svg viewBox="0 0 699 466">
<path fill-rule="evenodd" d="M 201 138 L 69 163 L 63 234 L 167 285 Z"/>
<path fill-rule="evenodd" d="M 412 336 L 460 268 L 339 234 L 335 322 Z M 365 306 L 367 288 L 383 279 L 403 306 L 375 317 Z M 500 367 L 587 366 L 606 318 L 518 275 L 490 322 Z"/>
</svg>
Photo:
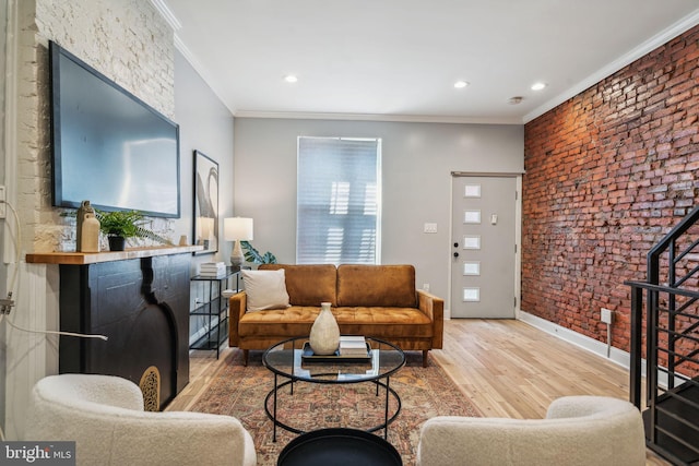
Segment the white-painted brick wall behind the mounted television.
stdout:
<svg viewBox="0 0 699 466">
<path fill-rule="evenodd" d="M 20 1 L 16 203 L 27 252 L 75 248 L 74 219 L 51 207 L 49 40 L 175 115 L 174 33 L 150 1 Z M 167 236 L 170 223 L 153 222 L 149 227 Z"/>
</svg>

